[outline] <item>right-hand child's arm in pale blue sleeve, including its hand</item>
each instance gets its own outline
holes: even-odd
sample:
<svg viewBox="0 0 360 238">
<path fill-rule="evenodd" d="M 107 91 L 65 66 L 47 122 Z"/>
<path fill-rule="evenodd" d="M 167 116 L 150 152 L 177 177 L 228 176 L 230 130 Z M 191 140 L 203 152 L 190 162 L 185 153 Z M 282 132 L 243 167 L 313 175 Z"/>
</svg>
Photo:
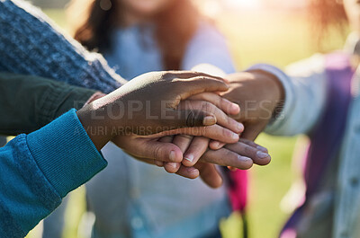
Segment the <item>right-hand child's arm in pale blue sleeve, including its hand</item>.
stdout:
<svg viewBox="0 0 360 238">
<path fill-rule="evenodd" d="M 315 56 L 289 68 L 286 75 L 275 66 L 252 66 L 248 72 L 229 75 L 230 90 L 223 93 L 242 109 L 242 137 L 254 139 L 266 129 L 278 136 L 309 133 L 326 100 L 324 58 Z"/>
</svg>

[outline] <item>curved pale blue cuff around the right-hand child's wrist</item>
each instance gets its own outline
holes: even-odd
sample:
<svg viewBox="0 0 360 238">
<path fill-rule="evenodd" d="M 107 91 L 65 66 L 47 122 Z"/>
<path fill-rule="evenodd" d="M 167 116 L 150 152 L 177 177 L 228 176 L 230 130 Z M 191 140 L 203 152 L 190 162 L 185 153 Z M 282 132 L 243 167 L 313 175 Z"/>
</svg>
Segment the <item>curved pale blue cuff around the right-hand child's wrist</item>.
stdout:
<svg viewBox="0 0 360 238">
<path fill-rule="evenodd" d="M 283 126 L 283 123 L 286 119 L 286 115 L 293 107 L 293 101 L 294 101 L 294 93 L 293 93 L 293 84 L 290 82 L 289 76 L 285 75 L 285 73 L 275 67 L 270 66 L 266 64 L 257 64 L 255 66 L 251 66 L 247 69 L 249 70 L 262 70 L 266 73 L 269 73 L 271 75 L 275 75 L 275 77 L 283 84 L 284 86 L 284 105 L 283 110 L 279 112 L 274 119 L 270 121 L 270 123 L 266 127 L 266 133 L 274 134 L 278 128 L 281 128 Z"/>
</svg>

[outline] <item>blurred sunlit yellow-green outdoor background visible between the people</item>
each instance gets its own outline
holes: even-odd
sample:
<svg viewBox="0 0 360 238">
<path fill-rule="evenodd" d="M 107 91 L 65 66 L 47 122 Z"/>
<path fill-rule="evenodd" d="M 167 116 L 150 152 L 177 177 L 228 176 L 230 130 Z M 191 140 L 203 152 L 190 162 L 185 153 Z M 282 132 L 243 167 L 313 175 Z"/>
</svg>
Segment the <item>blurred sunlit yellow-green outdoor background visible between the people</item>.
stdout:
<svg viewBox="0 0 360 238">
<path fill-rule="evenodd" d="M 34 1 L 42 6 L 61 28 L 67 31 L 63 6 L 67 1 Z M 220 31 L 229 39 L 229 47 L 238 67 L 246 69 L 254 63 L 266 62 L 284 66 L 310 57 L 319 51 L 316 34 L 311 31 L 306 1 L 284 0 L 200 0 L 202 11 L 216 20 Z M 49 8 L 50 7 L 50 8 Z M 54 9 L 57 7 L 57 9 Z M 323 44 L 323 51 L 341 48 L 344 37 L 333 34 Z M 289 206 L 282 201 L 297 177 L 292 165 L 296 137 L 270 137 L 261 135 L 257 143 L 269 149 L 272 162 L 266 167 L 251 169 L 248 206 L 250 238 L 276 237 L 289 216 Z M 296 170 L 295 170 L 296 171 Z M 67 209 L 66 238 L 82 238 L 76 228 L 84 207 L 84 190 L 72 194 Z M 292 199 L 291 199 L 292 200 Z M 241 237 L 241 225 L 234 215 L 221 224 L 224 237 Z M 28 238 L 40 236 L 40 226 Z"/>
</svg>

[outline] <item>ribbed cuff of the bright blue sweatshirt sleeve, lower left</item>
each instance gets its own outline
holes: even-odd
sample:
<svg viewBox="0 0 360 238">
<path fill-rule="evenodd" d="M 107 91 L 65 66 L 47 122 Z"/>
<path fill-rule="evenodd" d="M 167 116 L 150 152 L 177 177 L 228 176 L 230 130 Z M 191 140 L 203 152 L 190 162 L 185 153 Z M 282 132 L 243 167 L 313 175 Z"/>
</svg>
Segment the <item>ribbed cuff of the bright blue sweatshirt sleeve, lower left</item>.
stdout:
<svg viewBox="0 0 360 238">
<path fill-rule="evenodd" d="M 29 134 L 27 143 L 41 172 L 61 198 L 107 165 L 87 136 L 76 110 Z"/>
</svg>

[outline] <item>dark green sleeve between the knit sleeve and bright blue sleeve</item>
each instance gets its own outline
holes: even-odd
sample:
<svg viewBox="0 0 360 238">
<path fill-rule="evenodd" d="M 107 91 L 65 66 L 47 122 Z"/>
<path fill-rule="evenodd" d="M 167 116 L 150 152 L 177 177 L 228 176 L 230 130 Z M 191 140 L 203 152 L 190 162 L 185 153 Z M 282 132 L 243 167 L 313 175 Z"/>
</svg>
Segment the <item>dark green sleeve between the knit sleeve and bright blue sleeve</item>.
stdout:
<svg viewBox="0 0 360 238">
<path fill-rule="evenodd" d="M 37 130 L 67 110 L 80 109 L 95 92 L 38 76 L 0 72 L 0 134 Z"/>
</svg>

